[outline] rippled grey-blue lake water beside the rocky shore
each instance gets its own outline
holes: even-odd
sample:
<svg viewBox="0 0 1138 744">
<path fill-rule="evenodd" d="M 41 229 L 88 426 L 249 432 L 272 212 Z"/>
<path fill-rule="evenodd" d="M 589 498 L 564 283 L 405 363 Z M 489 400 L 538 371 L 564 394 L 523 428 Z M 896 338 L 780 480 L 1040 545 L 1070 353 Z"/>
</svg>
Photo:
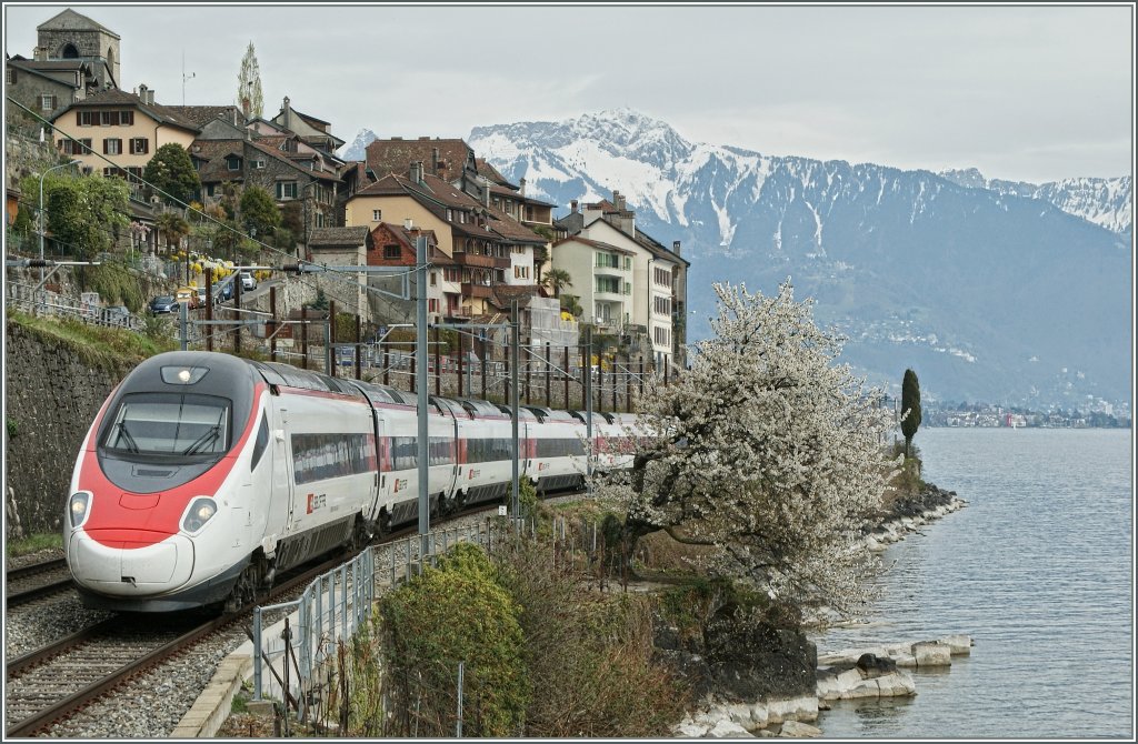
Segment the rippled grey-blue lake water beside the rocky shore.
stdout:
<svg viewBox="0 0 1138 744">
<path fill-rule="evenodd" d="M 921 429 L 924 478 L 968 506 L 884 553 L 868 627 L 818 653 L 971 635 L 917 694 L 836 701 L 826 738 L 1133 741 L 1130 430 Z"/>
</svg>

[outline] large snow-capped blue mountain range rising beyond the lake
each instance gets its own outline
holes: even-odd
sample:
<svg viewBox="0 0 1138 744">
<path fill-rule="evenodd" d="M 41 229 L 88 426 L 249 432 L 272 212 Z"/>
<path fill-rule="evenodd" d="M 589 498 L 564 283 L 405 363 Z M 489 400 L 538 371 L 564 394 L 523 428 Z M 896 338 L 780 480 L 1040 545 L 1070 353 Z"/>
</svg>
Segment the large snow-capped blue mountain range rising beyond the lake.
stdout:
<svg viewBox="0 0 1138 744">
<path fill-rule="evenodd" d="M 559 214 L 618 190 L 638 229 L 681 240 L 688 340 L 708 333 L 712 282 L 769 292 L 789 275 L 874 381 L 898 387 L 913 366 L 942 400 L 1129 395 L 1129 177 L 1021 192 L 694 143 L 629 109 L 476 127 L 468 142 Z"/>
</svg>

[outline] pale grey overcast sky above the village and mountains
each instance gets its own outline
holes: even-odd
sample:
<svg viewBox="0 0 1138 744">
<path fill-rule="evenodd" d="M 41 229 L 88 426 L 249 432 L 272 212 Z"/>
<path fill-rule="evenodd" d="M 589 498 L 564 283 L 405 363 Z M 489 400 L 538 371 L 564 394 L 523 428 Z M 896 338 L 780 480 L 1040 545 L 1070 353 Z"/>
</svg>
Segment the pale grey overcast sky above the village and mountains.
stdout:
<svg viewBox="0 0 1138 744">
<path fill-rule="evenodd" d="M 249 41 L 352 141 L 630 107 L 692 142 L 1032 182 L 1131 175 L 1133 9 L 5 5 L 5 50 L 66 7 L 117 33 L 126 90 L 229 105 Z"/>
</svg>

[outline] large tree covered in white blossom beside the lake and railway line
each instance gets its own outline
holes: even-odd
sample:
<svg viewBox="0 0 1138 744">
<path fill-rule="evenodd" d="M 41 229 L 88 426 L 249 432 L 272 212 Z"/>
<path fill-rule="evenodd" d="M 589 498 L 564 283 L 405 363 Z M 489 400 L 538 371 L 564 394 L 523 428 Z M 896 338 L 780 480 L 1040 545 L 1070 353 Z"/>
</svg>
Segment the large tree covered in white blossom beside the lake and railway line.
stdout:
<svg viewBox="0 0 1138 744">
<path fill-rule="evenodd" d="M 789 280 L 775 297 L 715 291 L 715 337 L 640 399 L 660 436 L 597 494 L 626 504 L 634 542 L 667 530 L 716 546 L 716 572 L 847 613 L 865 598 L 856 540 L 892 470 L 882 394 L 835 363 L 841 339 L 815 325 L 813 300 L 794 301 Z"/>
</svg>

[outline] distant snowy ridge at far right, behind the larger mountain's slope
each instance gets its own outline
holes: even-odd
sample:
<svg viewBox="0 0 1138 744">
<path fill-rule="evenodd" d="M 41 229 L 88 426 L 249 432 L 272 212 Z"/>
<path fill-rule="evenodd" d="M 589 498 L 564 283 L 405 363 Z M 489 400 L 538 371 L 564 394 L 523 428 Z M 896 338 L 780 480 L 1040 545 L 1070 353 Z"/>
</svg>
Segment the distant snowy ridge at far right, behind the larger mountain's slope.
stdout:
<svg viewBox="0 0 1138 744">
<path fill-rule="evenodd" d="M 972 189 L 990 189 L 1031 199 L 1042 199 L 1096 225 L 1129 239 L 1133 234 L 1133 177 L 1064 179 L 1048 183 L 986 179 L 976 168 L 942 171 L 949 181 Z"/>
</svg>

